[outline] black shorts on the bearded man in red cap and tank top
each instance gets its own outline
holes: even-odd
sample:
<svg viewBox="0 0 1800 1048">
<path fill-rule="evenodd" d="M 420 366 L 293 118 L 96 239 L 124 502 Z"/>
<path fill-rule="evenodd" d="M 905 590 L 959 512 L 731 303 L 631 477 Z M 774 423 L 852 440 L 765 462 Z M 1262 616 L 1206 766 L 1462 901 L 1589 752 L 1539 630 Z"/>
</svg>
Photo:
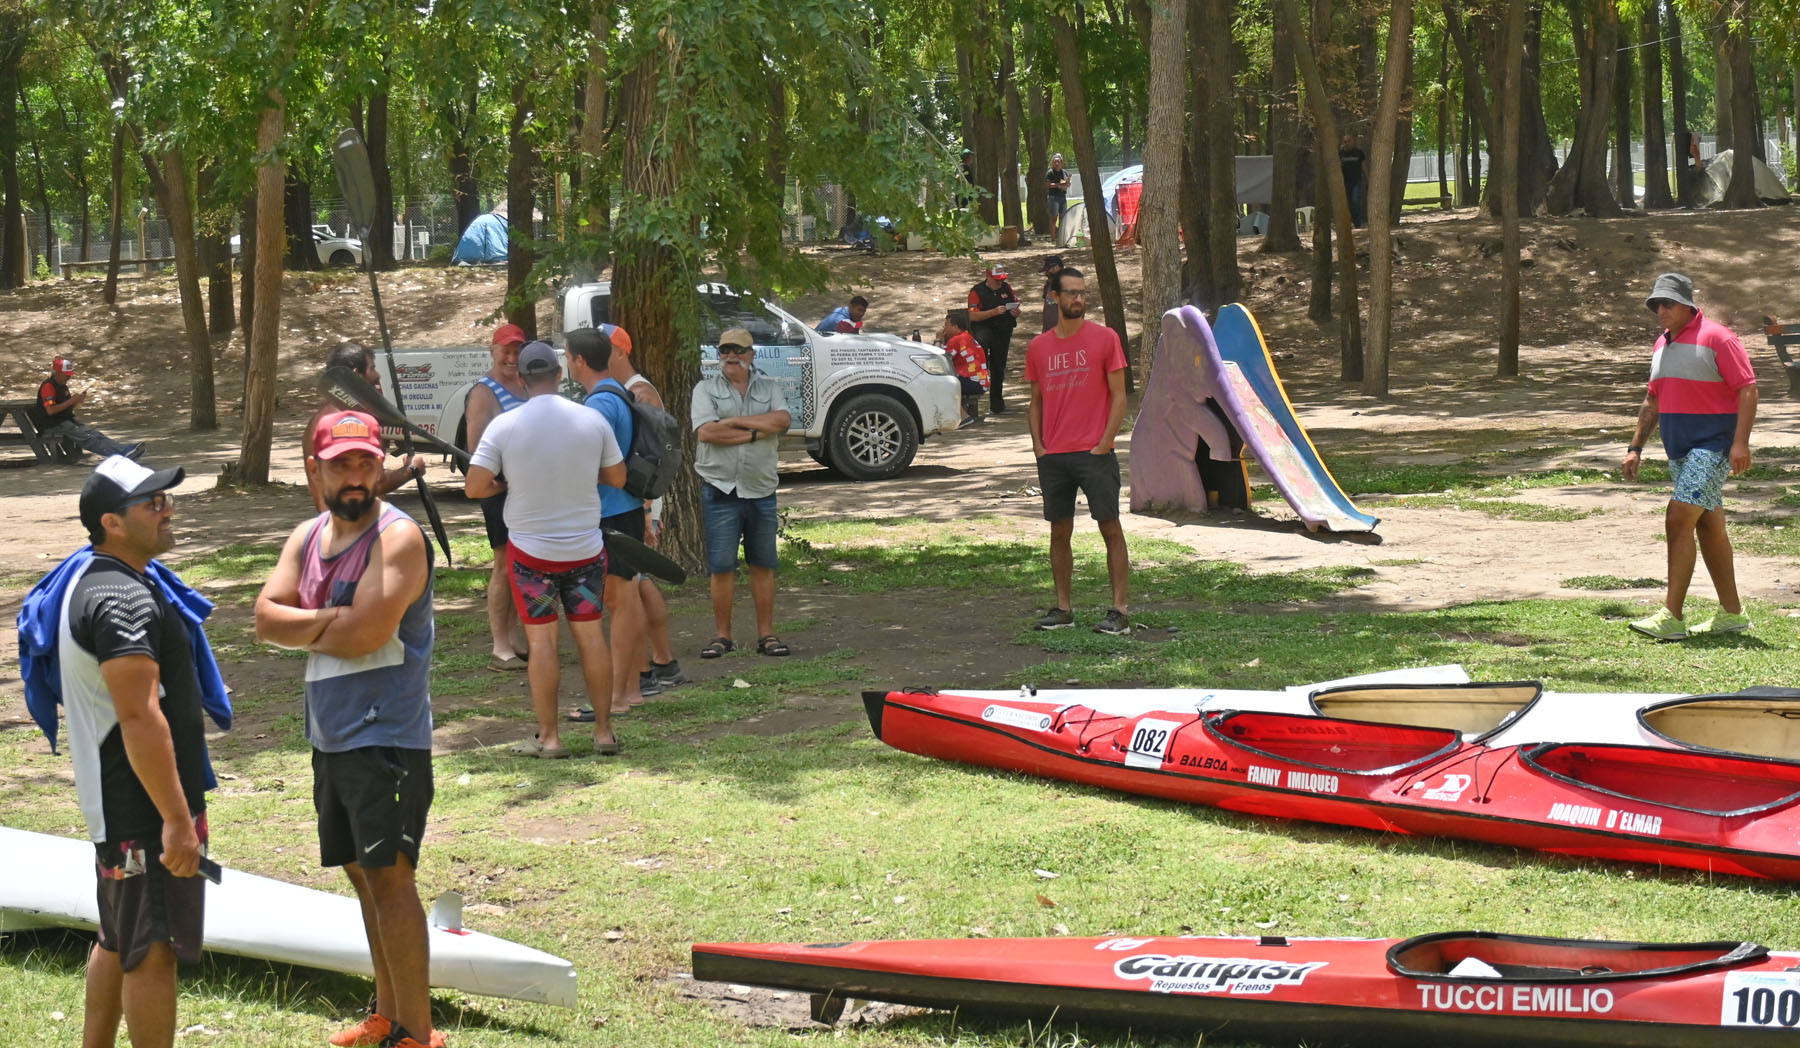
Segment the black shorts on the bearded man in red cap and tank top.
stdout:
<svg viewBox="0 0 1800 1048">
<path fill-rule="evenodd" d="M 432 751 L 367 745 L 313 751 L 313 810 L 320 866 L 419 864 L 432 810 Z"/>
</svg>

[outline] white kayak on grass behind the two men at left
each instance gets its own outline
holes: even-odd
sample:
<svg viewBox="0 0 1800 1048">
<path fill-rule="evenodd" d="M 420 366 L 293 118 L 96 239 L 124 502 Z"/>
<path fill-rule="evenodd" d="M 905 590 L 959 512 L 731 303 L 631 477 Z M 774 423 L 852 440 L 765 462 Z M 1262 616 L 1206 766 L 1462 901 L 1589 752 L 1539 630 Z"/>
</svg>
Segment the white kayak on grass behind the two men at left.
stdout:
<svg viewBox="0 0 1800 1048">
<path fill-rule="evenodd" d="M 99 926 L 94 845 L 0 827 L 0 933 Z M 576 1007 L 574 965 L 463 927 L 463 897 L 437 897 L 427 920 L 432 987 L 484 998 Z M 355 899 L 225 870 L 207 884 L 205 949 L 373 976 Z"/>
</svg>

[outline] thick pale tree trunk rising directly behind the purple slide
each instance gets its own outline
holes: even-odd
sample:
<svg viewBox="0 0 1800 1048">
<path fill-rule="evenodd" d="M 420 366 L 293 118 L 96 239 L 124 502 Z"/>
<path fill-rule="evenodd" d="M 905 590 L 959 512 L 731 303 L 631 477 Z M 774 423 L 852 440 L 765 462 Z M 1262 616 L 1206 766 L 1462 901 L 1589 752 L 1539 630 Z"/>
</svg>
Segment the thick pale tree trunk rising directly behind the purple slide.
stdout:
<svg viewBox="0 0 1800 1048">
<path fill-rule="evenodd" d="M 1150 11 L 1150 113 L 1143 139 L 1143 200 L 1138 245 L 1143 248 L 1143 321 L 1132 369 L 1141 389 L 1163 333 L 1163 312 L 1181 304 L 1181 140 L 1186 130 L 1188 5 Z M 1289 221 L 1292 229 L 1292 221 Z"/>
</svg>

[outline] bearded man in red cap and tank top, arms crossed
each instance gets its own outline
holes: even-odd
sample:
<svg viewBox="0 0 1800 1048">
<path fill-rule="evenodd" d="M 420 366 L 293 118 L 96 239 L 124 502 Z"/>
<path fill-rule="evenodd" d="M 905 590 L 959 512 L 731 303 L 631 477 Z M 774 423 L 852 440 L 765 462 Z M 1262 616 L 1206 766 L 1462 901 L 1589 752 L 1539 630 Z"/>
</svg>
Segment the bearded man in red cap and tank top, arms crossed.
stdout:
<svg viewBox="0 0 1800 1048">
<path fill-rule="evenodd" d="M 374 493 L 382 427 L 326 414 L 306 461 L 326 511 L 288 535 L 256 598 L 256 636 L 308 652 L 319 861 L 342 866 L 374 958 L 374 1010 L 333 1043 L 441 1044 L 414 872 L 432 807 L 432 546 Z"/>
</svg>

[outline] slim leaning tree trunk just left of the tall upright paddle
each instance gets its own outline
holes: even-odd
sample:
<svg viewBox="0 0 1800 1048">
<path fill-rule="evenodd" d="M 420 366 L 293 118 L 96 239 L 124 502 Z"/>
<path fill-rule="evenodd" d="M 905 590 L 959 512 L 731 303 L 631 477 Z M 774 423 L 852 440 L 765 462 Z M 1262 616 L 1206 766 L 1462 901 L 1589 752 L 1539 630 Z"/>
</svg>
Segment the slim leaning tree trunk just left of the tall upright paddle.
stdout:
<svg viewBox="0 0 1800 1048">
<path fill-rule="evenodd" d="M 281 234 L 284 218 L 284 167 L 277 155 L 284 137 L 284 101 L 268 92 L 268 108 L 256 128 L 256 312 L 245 351 L 243 447 L 238 450 L 238 483 L 266 484 L 268 454 L 275 439 L 275 367 L 281 358 Z M 248 306 L 245 312 L 250 312 Z"/>
</svg>

